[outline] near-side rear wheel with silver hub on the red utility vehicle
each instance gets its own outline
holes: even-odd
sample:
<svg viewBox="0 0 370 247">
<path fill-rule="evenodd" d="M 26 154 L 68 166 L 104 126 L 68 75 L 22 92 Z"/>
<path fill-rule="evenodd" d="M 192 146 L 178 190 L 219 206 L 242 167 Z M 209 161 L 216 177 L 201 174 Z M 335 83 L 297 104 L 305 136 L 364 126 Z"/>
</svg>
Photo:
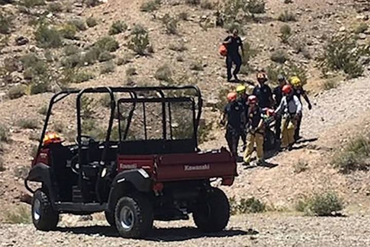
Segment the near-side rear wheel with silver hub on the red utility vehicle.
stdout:
<svg viewBox="0 0 370 247">
<path fill-rule="evenodd" d="M 153 227 L 153 206 L 144 196 L 122 197 L 115 208 L 118 233 L 124 238 L 143 238 Z"/>
</svg>

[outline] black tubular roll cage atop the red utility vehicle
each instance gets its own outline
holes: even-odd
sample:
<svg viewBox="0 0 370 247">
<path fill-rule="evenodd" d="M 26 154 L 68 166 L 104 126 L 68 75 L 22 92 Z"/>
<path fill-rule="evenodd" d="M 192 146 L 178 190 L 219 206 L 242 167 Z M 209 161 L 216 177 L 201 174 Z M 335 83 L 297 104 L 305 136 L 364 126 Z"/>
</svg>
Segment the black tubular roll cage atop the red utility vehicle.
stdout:
<svg viewBox="0 0 370 247">
<path fill-rule="evenodd" d="M 198 129 L 198 126 L 199 126 L 199 120 L 200 120 L 200 116 L 201 116 L 201 108 L 202 108 L 202 104 L 203 104 L 203 101 L 202 101 L 202 98 L 201 98 L 201 93 L 200 93 L 200 90 L 197 86 L 192 86 L 192 85 L 187 85 L 187 86 L 146 86 L 146 87 L 108 87 L 108 86 L 104 86 L 104 87 L 89 87 L 89 88 L 86 88 L 86 89 L 83 89 L 83 90 L 76 90 L 76 89 L 71 89 L 71 90 L 65 90 L 65 91 L 61 91 L 57 94 L 54 94 L 51 99 L 50 99 L 50 102 L 49 102 L 49 107 L 48 107 L 48 111 L 47 111 L 47 114 L 46 114 L 46 119 L 45 119 L 45 124 L 44 124 L 44 127 L 43 127 L 43 130 L 42 130 L 42 134 L 41 134 L 41 138 L 40 138 L 40 142 L 39 142 L 39 147 L 38 147 L 38 151 L 36 153 L 36 157 L 40 154 L 40 151 L 41 151 L 41 148 L 42 148 L 42 145 L 43 145 L 43 139 L 45 137 L 45 134 L 46 134 L 46 130 L 47 130 L 47 127 L 48 127 L 48 122 L 49 122 L 49 119 L 50 119 L 50 115 L 51 115 L 51 110 L 52 110 L 52 107 L 55 103 L 61 101 L 62 99 L 68 97 L 69 95 L 71 94 L 77 94 L 77 99 L 76 99 L 76 109 L 77 109 L 77 145 L 78 145 L 78 149 L 79 149 L 79 153 L 81 152 L 81 149 L 82 149 L 82 143 L 81 143 L 81 134 L 82 134 L 82 130 L 81 130 L 81 97 L 83 94 L 86 94 L 86 93 L 108 93 L 109 96 L 110 96 L 110 117 L 109 117 L 109 123 L 108 123 L 108 128 L 107 128 L 107 134 L 106 134 L 106 137 L 105 137 L 105 142 L 104 142 L 104 151 L 102 153 L 102 158 L 101 158 L 101 161 L 105 161 L 105 158 L 106 158 L 106 154 L 107 154 L 107 150 L 109 148 L 109 139 L 110 139 L 110 133 L 112 132 L 112 127 L 113 127 L 113 122 L 114 122 L 114 113 L 115 113 L 115 109 L 116 109 L 116 100 L 115 100 L 115 93 L 128 93 L 130 95 L 130 98 L 129 100 L 127 99 L 120 99 L 119 102 L 124 102 L 124 101 L 130 101 L 130 102 L 133 102 L 134 103 L 134 106 L 133 108 L 135 108 L 135 104 L 137 102 L 142 102 L 142 101 L 156 101 L 156 102 L 161 102 L 162 103 L 162 125 L 163 125 L 163 138 L 166 138 L 166 116 L 165 116 L 165 103 L 168 102 L 167 99 L 165 96 L 165 93 L 164 92 L 168 92 L 168 91 L 175 91 L 175 90 L 193 90 L 194 91 L 194 97 L 197 97 L 197 109 L 195 110 L 194 108 L 194 100 L 193 100 L 193 97 L 191 97 L 192 99 L 192 102 L 193 102 L 193 116 L 194 116 L 194 138 L 195 138 L 195 144 L 197 145 L 197 129 Z M 158 98 L 139 98 L 138 97 L 138 93 L 140 92 L 157 92 L 159 97 Z M 176 101 L 176 98 L 179 98 L 179 99 L 186 99 L 186 97 L 173 97 L 173 101 Z M 188 97 L 189 99 L 189 97 Z M 178 100 L 177 100 L 178 101 Z M 169 108 L 170 108 L 170 104 L 169 104 Z M 169 112 L 171 112 L 171 110 L 169 110 Z M 196 113 L 195 113 L 196 112 Z M 130 112 L 130 115 L 129 115 L 129 118 L 130 116 L 132 117 L 132 114 L 133 114 L 133 110 L 131 110 Z M 129 119 L 130 120 L 130 119 Z M 171 120 L 171 119 L 170 119 Z M 127 134 L 127 131 L 128 131 L 128 128 L 130 127 L 130 123 L 127 124 L 126 126 L 126 130 L 125 130 L 125 134 Z M 120 125 L 119 125 L 119 128 L 120 128 Z M 170 135 L 172 137 L 172 130 L 170 128 Z M 122 141 L 122 138 L 121 138 L 121 132 L 119 131 L 119 135 L 120 135 L 120 142 Z M 124 136 L 125 138 L 126 136 Z M 124 139 L 123 138 L 123 139 Z"/>
</svg>

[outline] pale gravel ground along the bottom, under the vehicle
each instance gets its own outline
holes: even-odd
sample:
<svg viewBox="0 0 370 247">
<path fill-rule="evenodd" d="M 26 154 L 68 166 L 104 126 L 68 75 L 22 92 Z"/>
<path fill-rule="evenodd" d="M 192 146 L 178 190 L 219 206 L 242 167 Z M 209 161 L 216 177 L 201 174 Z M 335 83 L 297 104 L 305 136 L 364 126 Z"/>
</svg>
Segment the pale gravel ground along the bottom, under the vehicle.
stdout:
<svg viewBox="0 0 370 247">
<path fill-rule="evenodd" d="M 156 222 L 146 240 L 120 238 L 104 221 L 73 225 L 45 233 L 36 231 L 32 224 L 3 224 L 0 246 L 370 246 L 370 215 L 233 216 L 226 231 L 212 235 L 199 233 L 192 221 Z"/>
</svg>

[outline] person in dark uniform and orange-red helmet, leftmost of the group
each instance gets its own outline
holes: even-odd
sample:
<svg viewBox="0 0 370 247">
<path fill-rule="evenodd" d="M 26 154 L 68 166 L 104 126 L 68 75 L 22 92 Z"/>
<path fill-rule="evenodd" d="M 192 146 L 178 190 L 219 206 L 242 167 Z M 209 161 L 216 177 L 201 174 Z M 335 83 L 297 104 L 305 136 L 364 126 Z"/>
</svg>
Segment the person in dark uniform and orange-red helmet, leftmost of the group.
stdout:
<svg viewBox="0 0 370 247">
<path fill-rule="evenodd" d="M 228 103 L 225 105 L 224 115 L 221 119 L 221 125 L 225 125 L 225 120 L 227 118 L 226 134 L 225 138 L 228 143 L 230 152 L 234 157 L 237 155 L 237 146 L 239 143 L 239 138 L 242 133 L 242 122 L 245 122 L 244 118 L 244 108 L 237 100 L 237 94 L 232 92 L 229 93 Z"/>
</svg>

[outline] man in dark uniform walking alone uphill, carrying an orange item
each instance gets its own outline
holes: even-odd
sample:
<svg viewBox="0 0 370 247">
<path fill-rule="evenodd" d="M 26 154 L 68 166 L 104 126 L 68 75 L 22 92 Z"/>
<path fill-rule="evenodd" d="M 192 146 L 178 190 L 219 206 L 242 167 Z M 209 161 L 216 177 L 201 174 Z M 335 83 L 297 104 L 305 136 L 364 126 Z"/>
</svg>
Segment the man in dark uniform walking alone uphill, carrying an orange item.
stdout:
<svg viewBox="0 0 370 247">
<path fill-rule="evenodd" d="M 226 66 L 227 66 L 227 80 L 230 82 L 231 67 L 232 64 L 235 64 L 235 69 L 233 71 L 233 76 L 236 81 L 238 81 L 237 74 L 242 66 L 242 57 L 239 54 L 239 47 L 242 49 L 242 54 L 244 56 L 243 42 L 242 39 L 238 36 L 238 30 L 234 29 L 232 36 L 228 36 L 223 44 L 227 47 L 227 56 L 226 56 Z"/>
</svg>

